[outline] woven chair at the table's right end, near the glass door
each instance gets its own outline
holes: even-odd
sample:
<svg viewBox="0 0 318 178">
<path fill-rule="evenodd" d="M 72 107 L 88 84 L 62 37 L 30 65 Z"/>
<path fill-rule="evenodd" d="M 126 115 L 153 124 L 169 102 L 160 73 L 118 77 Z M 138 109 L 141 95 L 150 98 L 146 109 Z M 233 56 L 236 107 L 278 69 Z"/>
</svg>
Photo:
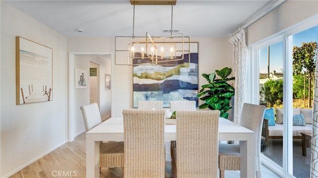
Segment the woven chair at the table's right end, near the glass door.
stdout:
<svg viewBox="0 0 318 178">
<path fill-rule="evenodd" d="M 261 178 L 260 141 L 265 107 L 254 104 L 243 104 L 240 125 L 255 132 L 255 173 Z M 224 171 L 240 170 L 240 153 L 238 144 L 219 144 L 220 178 Z"/>
</svg>

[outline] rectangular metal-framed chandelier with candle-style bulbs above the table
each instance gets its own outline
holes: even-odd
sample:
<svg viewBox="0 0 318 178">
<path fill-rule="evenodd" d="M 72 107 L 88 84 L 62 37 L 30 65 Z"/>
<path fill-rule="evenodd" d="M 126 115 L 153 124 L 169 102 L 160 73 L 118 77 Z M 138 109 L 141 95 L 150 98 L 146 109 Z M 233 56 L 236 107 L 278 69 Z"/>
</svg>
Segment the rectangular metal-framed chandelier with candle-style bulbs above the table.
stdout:
<svg viewBox="0 0 318 178">
<path fill-rule="evenodd" d="M 130 2 L 134 5 L 133 31 L 132 36 L 130 37 L 131 42 L 128 43 L 126 49 L 120 48 L 120 46 L 117 46 L 117 41 L 125 41 L 125 39 L 128 39 L 129 37 L 115 37 L 115 64 L 176 66 L 190 63 L 190 56 L 187 56 L 187 61 L 183 61 L 184 52 L 190 54 L 189 37 L 184 37 L 182 33 L 173 34 L 173 5 L 175 5 L 176 0 L 130 0 Z M 170 35 L 153 37 L 147 32 L 145 37 L 135 36 L 135 5 L 171 5 Z M 142 38 L 144 38 L 144 40 L 139 40 Z M 184 46 L 184 38 L 188 39 L 186 42 L 187 46 Z M 124 55 L 127 56 L 127 63 L 117 63 L 116 59 L 121 60 Z"/>
</svg>

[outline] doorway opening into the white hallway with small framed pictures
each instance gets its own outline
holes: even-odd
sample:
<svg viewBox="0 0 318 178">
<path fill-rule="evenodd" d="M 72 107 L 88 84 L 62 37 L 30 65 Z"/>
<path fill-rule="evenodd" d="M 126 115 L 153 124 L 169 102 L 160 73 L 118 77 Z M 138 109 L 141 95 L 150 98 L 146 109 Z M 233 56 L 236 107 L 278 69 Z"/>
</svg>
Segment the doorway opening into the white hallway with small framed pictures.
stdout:
<svg viewBox="0 0 318 178">
<path fill-rule="evenodd" d="M 87 77 L 87 88 L 76 88 L 75 70 L 80 69 L 83 71 L 87 71 L 87 73 L 90 73 L 91 65 L 93 65 L 94 67 L 97 66 L 97 78 L 94 79 L 95 84 L 91 85 L 90 77 Z M 112 53 L 69 53 L 69 120 L 67 130 L 68 141 L 73 141 L 77 135 L 85 130 L 82 115 L 79 110 L 80 106 L 95 102 L 99 106 L 101 119 L 108 119 L 111 117 L 111 113 L 113 110 L 112 89 L 108 89 L 105 87 L 105 76 L 112 76 L 112 65 Z M 90 88 L 93 88 L 93 92 L 96 95 L 90 93 Z"/>
</svg>

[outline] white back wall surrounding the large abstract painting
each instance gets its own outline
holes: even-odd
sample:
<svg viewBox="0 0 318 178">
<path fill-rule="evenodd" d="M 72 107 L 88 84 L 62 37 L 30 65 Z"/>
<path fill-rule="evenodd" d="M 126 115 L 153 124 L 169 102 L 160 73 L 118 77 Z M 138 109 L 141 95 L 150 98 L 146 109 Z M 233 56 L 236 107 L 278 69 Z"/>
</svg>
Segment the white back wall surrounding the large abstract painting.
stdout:
<svg viewBox="0 0 318 178">
<path fill-rule="evenodd" d="M 199 89 L 207 81 L 202 73 L 211 73 L 223 67 L 232 67 L 232 45 L 228 38 L 191 38 L 199 42 Z M 114 53 L 113 38 L 69 38 L 68 48 L 72 52 Z M 132 66 L 113 65 L 112 97 L 113 117 L 121 117 L 123 109 L 133 108 Z M 201 101 L 200 101 L 201 102 Z"/>
</svg>

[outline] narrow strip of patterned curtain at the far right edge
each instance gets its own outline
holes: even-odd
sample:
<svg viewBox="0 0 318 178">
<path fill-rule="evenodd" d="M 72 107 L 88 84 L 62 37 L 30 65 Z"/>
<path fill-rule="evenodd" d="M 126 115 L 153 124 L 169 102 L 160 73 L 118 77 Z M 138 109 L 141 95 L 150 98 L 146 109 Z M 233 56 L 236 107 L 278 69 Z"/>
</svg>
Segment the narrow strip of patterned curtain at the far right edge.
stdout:
<svg viewBox="0 0 318 178">
<path fill-rule="evenodd" d="M 318 177 L 318 63 L 316 63 L 314 102 L 313 102 L 313 124 L 312 124 L 312 169 L 311 177 Z"/>
</svg>

